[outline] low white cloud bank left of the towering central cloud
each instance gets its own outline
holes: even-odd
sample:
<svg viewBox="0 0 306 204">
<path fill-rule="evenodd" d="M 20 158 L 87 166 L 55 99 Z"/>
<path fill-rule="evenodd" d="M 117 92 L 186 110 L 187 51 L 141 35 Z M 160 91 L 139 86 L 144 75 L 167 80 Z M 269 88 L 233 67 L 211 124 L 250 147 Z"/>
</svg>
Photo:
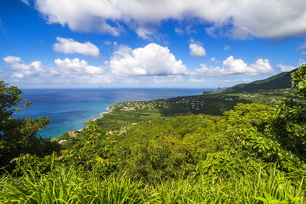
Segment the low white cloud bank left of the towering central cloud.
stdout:
<svg viewBox="0 0 306 204">
<path fill-rule="evenodd" d="M 3 60 L 7 67 L 6 79 L 22 80 L 25 83 L 29 80 L 38 84 L 98 84 L 115 81 L 110 73 L 104 71 L 103 66 L 88 65 L 85 60 L 78 58 L 56 59 L 54 62 L 57 67 L 44 66 L 37 60 L 27 64 L 20 57 L 14 56 L 4 57 Z"/>
</svg>

